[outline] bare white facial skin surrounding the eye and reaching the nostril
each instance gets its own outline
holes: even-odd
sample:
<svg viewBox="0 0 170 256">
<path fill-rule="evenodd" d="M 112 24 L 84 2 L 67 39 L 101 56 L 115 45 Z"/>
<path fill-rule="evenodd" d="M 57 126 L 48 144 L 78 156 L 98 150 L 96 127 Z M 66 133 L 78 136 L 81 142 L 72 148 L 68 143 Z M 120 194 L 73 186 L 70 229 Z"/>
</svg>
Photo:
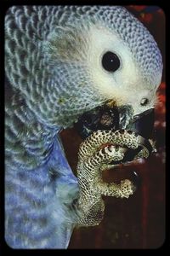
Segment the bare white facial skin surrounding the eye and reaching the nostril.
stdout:
<svg viewBox="0 0 170 256">
<path fill-rule="evenodd" d="M 136 113 L 154 105 L 155 92 L 141 78 L 130 49 L 114 32 L 103 26 L 92 26 L 90 33 L 90 47 L 88 49 L 88 68 L 92 83 L 105 100 L 113 100 L 117 106 L 131 104 Z M 116 54 L 121 66 L 116 72 L 108 72 L 102 67 L 103 55 L 111 51 Z M 143 97 L 149 97 L 148 106 L 140 105 Z"/>
</svg>

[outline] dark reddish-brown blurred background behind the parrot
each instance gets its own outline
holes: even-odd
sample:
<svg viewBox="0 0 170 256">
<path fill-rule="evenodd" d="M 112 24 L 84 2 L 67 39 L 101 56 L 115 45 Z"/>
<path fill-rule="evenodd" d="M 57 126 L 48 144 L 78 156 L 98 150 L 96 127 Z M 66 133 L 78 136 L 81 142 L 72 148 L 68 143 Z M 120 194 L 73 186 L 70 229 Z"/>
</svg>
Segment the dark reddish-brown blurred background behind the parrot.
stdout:
<svg viewBox="0 0 170 256">
<path fill-rule="evenodd" d="M 144 23 L 156 39 L 165 63 L 165 15 L 157 6 L 130 5 L 126 8 Z M 105 171 L 106 181 L 119 182 L 137 172 L 140 185 L 127 199 L 105 197 L 105 218 L 96 227 L 79 228 L 71 236 L 69 248 L 157 248 L 165 239 L 165 64 L 157 91 L 155 136 L 157 152 L 148 160 Z M 62 131 L 65 154 L 73 172 L 82 139 L 77 131 Z"/>
</svg>

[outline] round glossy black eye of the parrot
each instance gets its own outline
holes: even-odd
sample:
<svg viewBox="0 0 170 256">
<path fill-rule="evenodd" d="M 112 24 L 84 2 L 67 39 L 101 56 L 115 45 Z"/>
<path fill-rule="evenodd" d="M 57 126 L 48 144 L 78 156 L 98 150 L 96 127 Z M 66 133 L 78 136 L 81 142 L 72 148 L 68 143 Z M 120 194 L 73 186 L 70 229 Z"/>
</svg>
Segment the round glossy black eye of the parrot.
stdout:
<svg viewBox="0 0 170 256">
<path fill-rule="evenodd" d="M 121 65 L 121 62 L 116 54 L 107 51 L 102 57 L 102 66 L 108 72 L 115 72 Z"/>
</svg>

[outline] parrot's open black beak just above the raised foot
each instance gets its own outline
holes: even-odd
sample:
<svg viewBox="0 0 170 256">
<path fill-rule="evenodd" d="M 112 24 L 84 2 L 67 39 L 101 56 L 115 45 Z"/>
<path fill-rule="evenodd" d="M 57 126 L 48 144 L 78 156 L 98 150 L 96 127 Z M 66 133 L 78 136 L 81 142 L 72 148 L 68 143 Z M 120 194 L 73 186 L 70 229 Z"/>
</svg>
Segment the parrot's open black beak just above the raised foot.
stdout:
<svg viewBox="0 0 170 256">
<path fill-rule="evenodd" d="M 129 130 L 137 132 L 148 139 L 152 137 L 154 126 L 154 108 L 133 116 L 133 108 L 129 105 L 122 107 L 102 107 L 82 114 L 75 124 L 82 139 L 97 130 Z"/>
</svg>

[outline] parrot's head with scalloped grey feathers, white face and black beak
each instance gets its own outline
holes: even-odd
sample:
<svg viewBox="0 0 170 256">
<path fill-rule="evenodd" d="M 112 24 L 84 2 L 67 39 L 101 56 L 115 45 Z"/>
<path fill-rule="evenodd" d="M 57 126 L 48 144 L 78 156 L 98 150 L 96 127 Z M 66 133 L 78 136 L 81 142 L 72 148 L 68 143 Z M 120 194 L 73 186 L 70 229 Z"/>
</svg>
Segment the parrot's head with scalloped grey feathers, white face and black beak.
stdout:
<svg viewBox="0 0 170 256">
<path fill-rule="evenodd" d="M 63 85 L 58 123 L 76 124 L 82 138 L 99 129 L 150 138 L 162 73 L 156 41 L 125 8 L 82 9 L 48 35 L 52 69 Z"/>
</svg>

